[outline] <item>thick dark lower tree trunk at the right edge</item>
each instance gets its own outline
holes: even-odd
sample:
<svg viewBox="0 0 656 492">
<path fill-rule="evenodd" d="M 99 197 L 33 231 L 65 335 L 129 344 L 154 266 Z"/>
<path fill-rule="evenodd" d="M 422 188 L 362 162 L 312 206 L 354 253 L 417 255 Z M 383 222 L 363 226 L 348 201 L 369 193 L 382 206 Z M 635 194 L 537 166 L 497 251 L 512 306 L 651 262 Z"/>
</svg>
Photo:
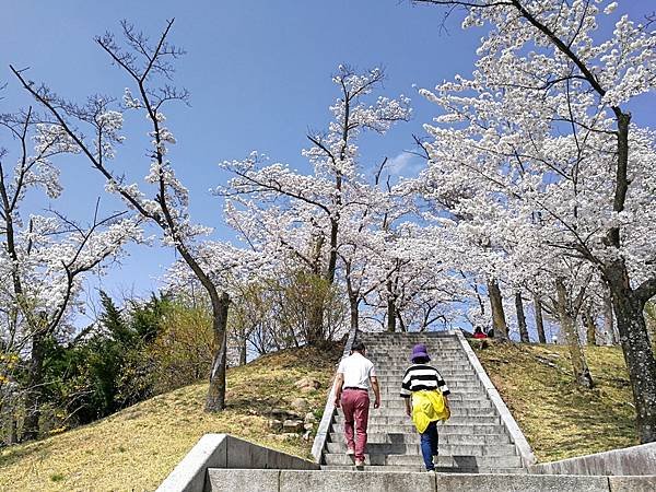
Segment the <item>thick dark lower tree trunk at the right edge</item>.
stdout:
<svg viewBox="0 0 656 492">
<path fill-rule="evenodd" d="M 656 441 L 656 360 L 647 337 L 645 301 L 632 290 L 624 261 L 616 259 L 605 268 L 605 279 L 612 294 L 620 343 L 624 352 L 640 442 Z"/>
</svg>

